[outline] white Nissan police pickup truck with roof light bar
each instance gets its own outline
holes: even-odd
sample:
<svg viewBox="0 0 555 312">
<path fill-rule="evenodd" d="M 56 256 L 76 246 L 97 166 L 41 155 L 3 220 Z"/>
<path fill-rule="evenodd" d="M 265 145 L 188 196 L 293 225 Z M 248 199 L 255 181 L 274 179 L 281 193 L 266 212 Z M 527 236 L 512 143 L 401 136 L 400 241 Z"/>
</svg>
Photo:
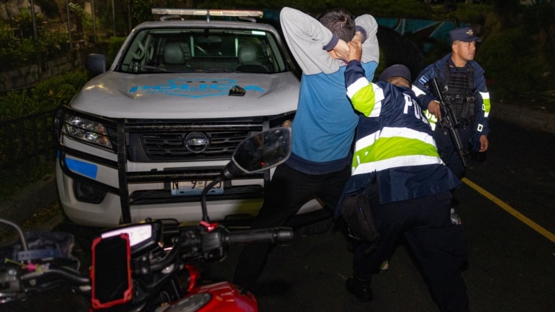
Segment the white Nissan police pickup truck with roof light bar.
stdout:
<svg viewBox="0 0 555 312">
<path fill-rule="evenodd" d="M 255 22 L 262 11 L 153 13 L 161 20 L 133 29 L 111 67 L 89 55 L 97 76 L 56 112 L 58 192 L 78 225 L 200 220 L 200 192 L 235 146 L 295 116 L 299 75 L 278 31 Z M 212 189 L 210 218 L 257 214 L 270 177 Z M 311 202 L 305 210 L 318 209 Z"/>
</svg>

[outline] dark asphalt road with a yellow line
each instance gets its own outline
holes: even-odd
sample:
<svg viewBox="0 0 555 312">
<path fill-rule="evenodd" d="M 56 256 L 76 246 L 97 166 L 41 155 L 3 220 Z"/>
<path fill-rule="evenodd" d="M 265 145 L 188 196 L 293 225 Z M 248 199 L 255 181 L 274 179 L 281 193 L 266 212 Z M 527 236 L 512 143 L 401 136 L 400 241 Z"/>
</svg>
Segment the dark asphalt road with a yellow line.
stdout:
<svg viewBox="0 0 555 312">
<path fill-rule="evenodd" d="M 470 162 L 455 193 L 470 246 L 463 272 L 470 308 L 555 311 L 555 135 L 490 123 L 487 159 Z M 204 266 L 204 277 L 230 279 L 238 253 Z M 373 278 L 373 302 L 345 291 L 351 260 L 350 244 L 336 227 L 278 246 L 259 280 L 260 311 L 438 311 L 402 241 L 387 272 Z M 0 310 L 87 311 L 86 302 L 67 292 L 35 299 Z"/>
</svg>

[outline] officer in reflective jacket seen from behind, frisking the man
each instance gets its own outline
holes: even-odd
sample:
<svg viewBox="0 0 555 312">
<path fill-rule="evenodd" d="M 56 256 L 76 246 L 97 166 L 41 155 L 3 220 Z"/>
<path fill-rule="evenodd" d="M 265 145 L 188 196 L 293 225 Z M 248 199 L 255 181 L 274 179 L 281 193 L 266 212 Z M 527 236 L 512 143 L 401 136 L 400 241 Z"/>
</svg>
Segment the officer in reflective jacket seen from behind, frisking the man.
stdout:
<svg viewBox="0 0 555 312">
<path fill-rule="evenodd" d="M 463 227 L 449 218 L 450 191 L 461 181 L 439 156 L 433 131 L 411 90 L 409 69 L 401 64 L 387 67 L 377 83 L 370 83 L 358 61 L 360 44 L 352 41 L 349 47 L 345 87 L 360 117 L 352 173 L 338 208 L 343 218 L 345 212 L 370 212 L 379 239 L 361 239 L 355 247 L 347 291 L 362 302 L 373 300 L 370 279 L 404 236 L 439 309 L 468 311 L 461 276 L 468 247 Z M 367 201 L 356 200 L 353 207 L 351 199 L 361 197 Z M 350 227 L 358 224 L 345 220 Z"/>
</svg>

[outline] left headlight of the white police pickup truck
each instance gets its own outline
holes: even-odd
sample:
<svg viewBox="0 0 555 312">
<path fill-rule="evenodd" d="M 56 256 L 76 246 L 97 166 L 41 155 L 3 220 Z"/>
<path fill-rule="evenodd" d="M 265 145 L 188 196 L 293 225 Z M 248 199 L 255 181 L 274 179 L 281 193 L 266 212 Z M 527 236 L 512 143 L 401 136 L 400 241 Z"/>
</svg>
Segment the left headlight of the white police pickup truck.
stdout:
<svg viewBox="0 0 555 312">
<path fill-rule="evenodd" d="M 80 116 L 67 116 L 64 133 L 74 139 L 112 149 L 108 131 L 102 123 Z"/>
</svg>

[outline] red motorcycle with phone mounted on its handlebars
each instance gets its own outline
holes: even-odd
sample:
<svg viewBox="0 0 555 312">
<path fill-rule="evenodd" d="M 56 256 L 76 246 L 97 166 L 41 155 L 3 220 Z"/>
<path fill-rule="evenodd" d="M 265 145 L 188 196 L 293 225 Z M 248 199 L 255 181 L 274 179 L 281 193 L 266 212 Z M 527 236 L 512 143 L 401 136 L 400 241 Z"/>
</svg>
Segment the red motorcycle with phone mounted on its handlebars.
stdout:
<svg viewBox="0 0 555 312">
<path fill-rule="evenodd" d="M 29 241 L 17 225 L 21 243 L 0 250 L 0 303 L 70 286 L 90 299 L 91 311 L 258 311 L 252 293 L 228 281 L 200 284 L 197 261 L 221 261 L 232 245 L 280 243 L 293 229 L 280 227 L 230 232 L 212 223 L 207 191 L 219 182 L 281 164 L 291 153 L 291 130 L 261 132 L 241 142 L 231 162 L 201 195 L 203 220 L 179 225 L 144 220 L 103 231 L 92 241 L 92 266 L 80 272 L 72 261 L 71 234 L 39 234 Z"/>
</svg>

